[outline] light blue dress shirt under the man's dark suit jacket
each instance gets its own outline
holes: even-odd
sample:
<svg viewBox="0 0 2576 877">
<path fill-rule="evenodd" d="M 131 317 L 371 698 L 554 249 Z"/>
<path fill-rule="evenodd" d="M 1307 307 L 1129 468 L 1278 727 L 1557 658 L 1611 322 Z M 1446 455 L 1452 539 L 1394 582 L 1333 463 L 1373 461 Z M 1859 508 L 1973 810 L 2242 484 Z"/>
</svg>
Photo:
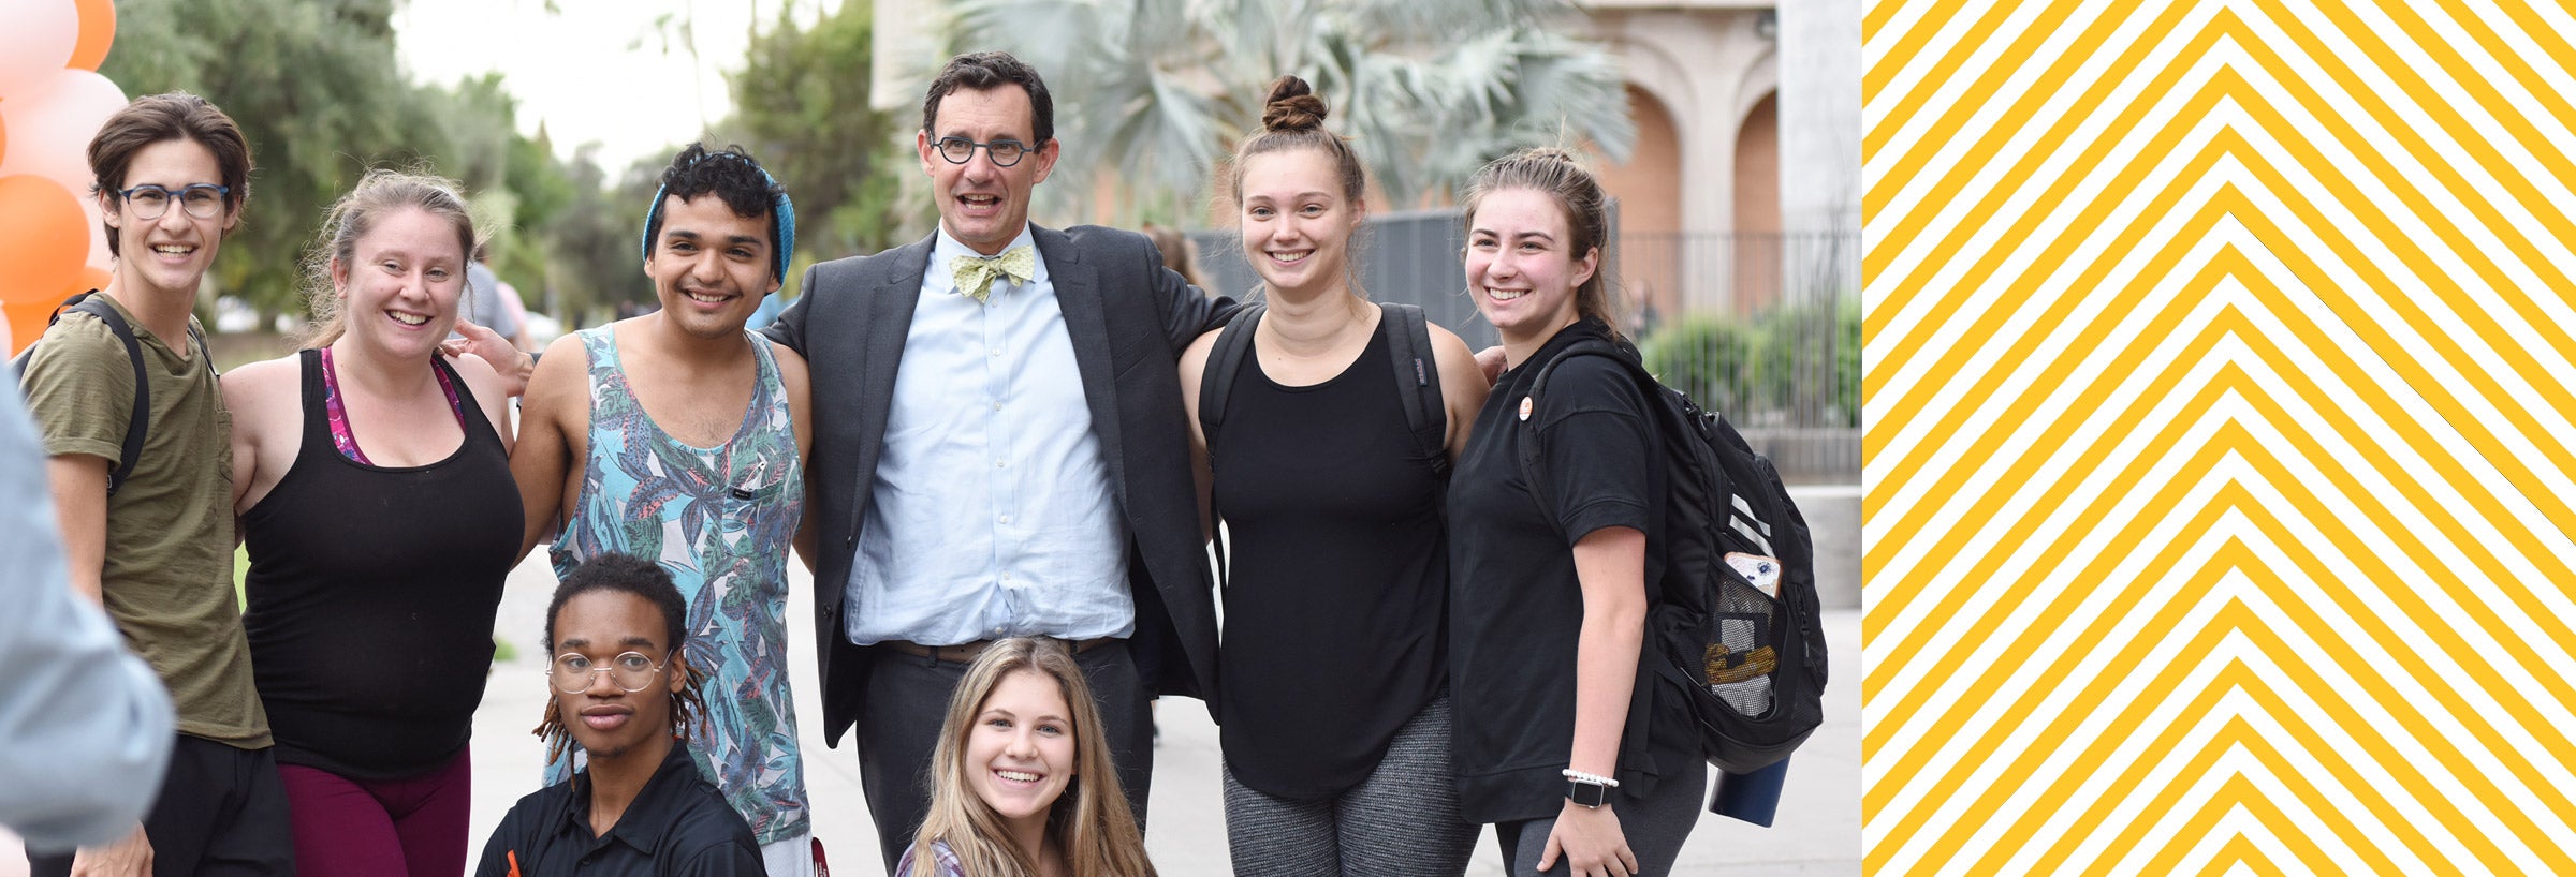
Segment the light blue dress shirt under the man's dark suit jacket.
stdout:
<svg viewBox="0 0 2576 877">
<path fill-rule="evenodd" d="M 1126 517 L 1046 260 L 976 303 L 951 280 L 961 255 L 940 229 L 850 566 L 850 643 L 1131 635 Z"/>
</svg>

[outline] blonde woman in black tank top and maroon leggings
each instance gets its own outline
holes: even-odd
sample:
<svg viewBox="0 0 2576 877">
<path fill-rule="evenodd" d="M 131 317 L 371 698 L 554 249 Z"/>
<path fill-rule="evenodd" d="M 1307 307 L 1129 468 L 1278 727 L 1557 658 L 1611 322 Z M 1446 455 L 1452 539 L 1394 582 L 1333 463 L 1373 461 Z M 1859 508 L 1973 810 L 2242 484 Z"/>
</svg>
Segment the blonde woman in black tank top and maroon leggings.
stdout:
<svg viewBox="0 0 2576 877">
<path fill-rule="evenodd" d="M 371 172 L 332 208 L 304 350 L 224 375 L 250 666 L 304 874 L 461 874 L 466 738 L 518 566 L 500 375 L 446 360 L 474 221 Z"/>
</svg>

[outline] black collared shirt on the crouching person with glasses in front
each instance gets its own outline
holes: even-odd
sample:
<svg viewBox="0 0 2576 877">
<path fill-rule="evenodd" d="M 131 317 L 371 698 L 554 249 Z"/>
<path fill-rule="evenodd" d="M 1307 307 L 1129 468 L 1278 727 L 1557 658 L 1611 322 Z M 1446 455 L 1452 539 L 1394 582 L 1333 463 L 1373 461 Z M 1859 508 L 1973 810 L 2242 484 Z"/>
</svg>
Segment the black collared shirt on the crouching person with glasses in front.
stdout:
<svg viewBox="0 0 2576 877">
<path fill-rule="evenodd" d="M 698 777 L 688 743 L 672 743 L 605 838 L 590 833 L 590 772 L 580 772 L 520 797 L 474 874 L 762 877 L 765 869 L 752 826 Z"/>
</svg>

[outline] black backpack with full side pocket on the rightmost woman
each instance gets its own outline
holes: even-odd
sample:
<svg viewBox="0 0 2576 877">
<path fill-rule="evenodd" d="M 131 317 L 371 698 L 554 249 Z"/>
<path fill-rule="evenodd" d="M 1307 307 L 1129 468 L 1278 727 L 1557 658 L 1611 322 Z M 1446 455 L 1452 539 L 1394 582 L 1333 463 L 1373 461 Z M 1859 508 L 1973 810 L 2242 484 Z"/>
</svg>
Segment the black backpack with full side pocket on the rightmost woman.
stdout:
<svg viewBox="0 0 2576 877">
<path fill-rule="evenodd" d="M 1788 759 L 1824 723 L 1806 517 L 1726 417 L 1656 381 L 1633 347 L 1574 342 L 1538 370 L 1530 399 L 1546 393 L 1556 365 L 1587 355 L 1636 378 L 1664 445 L 1664 597 L 1646 612 L 1646 648 L 1659 656 L 1649 664 L 1685 692 L 1708 764 L 1749 774 Z M 1538 429 L 1525 429 L 1520 473 L 1535 494 L 1543 455 Z"/>
</svg>

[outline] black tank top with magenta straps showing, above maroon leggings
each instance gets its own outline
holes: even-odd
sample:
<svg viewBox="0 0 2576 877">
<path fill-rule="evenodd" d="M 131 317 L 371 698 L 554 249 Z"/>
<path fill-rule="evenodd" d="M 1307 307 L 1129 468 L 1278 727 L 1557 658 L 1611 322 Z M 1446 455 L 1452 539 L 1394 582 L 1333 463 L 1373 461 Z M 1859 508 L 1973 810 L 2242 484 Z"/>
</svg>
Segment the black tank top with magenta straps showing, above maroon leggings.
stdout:
<svg viewBox="0 0 2576 877">
<path fill-rule="evenodd" d="M 304 350 L 296 466 L 242 514 L 250 669 L 281 764 L 353 779 L 438 769 L 466 746 L 492 612 L 518 566 L 510 455 L 464 378 L 466 440 L 430 466 L 343 458 Z"/>
</svg>

